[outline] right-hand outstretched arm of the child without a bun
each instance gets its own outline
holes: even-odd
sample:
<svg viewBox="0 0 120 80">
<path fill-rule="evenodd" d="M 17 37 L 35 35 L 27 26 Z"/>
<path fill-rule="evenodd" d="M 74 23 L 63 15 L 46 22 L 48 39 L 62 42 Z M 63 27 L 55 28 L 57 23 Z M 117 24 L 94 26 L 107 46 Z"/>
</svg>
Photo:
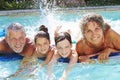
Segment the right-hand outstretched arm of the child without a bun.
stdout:
<svg viewBox="0 0 120 80">
<path fill-rule="evenodd" d="M 62 77 L 59 80 L 66 80 L 67 75 L 69 74 L 71 68 L 77 63 L 78 54 L 76 51 L 72 51 L 72 55 L 70 57 L 70 62 L 66 70 L 64 70 Z"/>
</svg>

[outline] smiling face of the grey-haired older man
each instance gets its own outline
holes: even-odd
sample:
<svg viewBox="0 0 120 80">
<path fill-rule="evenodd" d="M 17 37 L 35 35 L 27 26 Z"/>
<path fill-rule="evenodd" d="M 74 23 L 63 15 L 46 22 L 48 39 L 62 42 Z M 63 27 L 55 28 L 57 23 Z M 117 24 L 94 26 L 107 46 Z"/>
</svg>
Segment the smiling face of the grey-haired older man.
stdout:
<svg viewBox="0 0 120 80">
<path fill-rule="evenodd" d="M 14 52 L 21 53 L 25 46 L 26 36 L 23 31 L 9 31 L 6 41 Z"/>
</svg>

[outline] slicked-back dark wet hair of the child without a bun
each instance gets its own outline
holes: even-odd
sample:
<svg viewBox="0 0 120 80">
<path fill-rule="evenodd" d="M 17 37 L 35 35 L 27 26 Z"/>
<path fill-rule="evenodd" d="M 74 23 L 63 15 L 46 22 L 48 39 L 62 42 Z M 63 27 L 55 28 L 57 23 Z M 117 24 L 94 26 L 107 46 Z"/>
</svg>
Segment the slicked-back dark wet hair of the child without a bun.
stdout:
<svg viewBox="0 0 120 80">
<path fill-rule="evenodd" d="M 64 39 L 67 39 L 70 44 L 72 44 L 72 39 L 71 39 L 71 35 L 68 32 L 61 32 L 58 33 L 57 36 L 55 36 L 55 45 L 57 45 L 58 42 L 63 41 Z"/>
</svg>

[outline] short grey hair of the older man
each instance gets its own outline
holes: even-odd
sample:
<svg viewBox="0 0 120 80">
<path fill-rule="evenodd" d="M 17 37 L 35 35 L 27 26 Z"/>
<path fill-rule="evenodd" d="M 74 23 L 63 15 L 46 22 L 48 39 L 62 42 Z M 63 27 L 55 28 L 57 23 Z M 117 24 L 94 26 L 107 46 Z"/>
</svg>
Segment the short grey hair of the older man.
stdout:
<svg viewBox="0 0 120 80">
<path fill-rule="evenodd" d="M 25 29 L 20 23 L 11 23 L 6 29 L 6 36 L 9 36 L 9 31 L 23 31 L 25 33 Z"/>
</svg>

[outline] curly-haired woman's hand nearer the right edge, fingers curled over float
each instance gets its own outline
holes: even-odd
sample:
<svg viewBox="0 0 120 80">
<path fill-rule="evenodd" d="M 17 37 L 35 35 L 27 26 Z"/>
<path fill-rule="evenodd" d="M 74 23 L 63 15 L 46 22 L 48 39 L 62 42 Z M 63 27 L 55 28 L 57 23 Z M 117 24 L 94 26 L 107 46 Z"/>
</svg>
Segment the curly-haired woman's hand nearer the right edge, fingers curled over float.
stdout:
<svg viewBox="0 0 120 80">
<path fill-rule="evenodd" d="M 100 63 L 105 63 L 109 59 L 110 53 L 111 53 L 110 48 L 105 49 L 104 51 L 101 52 L 101 54 L 99 54 L 98 61 Z"/>
</svg>

